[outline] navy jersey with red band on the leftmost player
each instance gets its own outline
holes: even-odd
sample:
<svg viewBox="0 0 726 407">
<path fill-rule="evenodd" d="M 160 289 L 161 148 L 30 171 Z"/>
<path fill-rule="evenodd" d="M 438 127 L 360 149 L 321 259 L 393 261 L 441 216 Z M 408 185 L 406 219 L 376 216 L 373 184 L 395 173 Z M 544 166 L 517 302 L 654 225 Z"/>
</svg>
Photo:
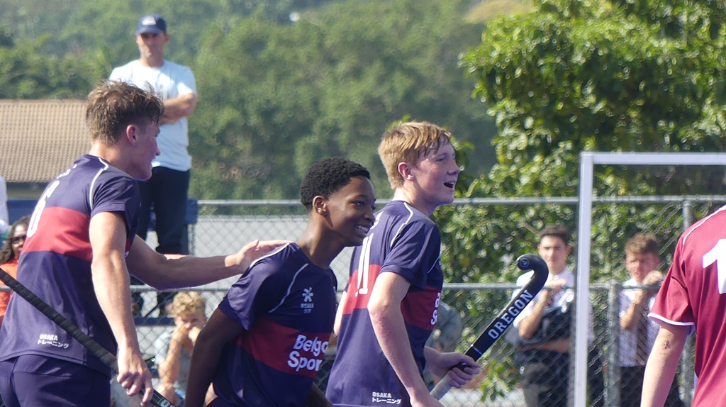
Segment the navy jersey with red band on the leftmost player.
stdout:
<svg viewBox="0 0 726 407">
<path fill-rule="evenodd" d="M 97 213 L 121 213 L 126 252 L 136 234 L 139 186 L 105 160 L 84 155 L 54 179 L 41 195 L 28 225 L 17 279 L 111 353 L 116 342 L 91 279 L 89 224 Z M 0 329 L 0 361 L 40 355 L 110 369 L 50 318 L 14 295 Z"/>
</svg>

